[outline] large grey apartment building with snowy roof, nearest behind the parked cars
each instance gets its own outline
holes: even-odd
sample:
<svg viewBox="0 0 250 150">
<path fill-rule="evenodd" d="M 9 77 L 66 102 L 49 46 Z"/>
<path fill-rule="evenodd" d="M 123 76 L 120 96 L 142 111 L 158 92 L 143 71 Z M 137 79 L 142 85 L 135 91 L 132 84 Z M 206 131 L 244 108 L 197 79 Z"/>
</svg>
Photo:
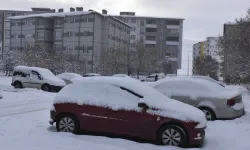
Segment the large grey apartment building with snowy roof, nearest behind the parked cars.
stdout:
<svg viewBox="0 0 250 150">
<path fill-rule="evenodd" d="M 86 72 L 93 72 L 106 50 L 129 50 L 130 26 L 115 17 L 82 7 L 10 17 L 10 48 L 22 50 L 41 45 L 84 61 Z M 126 68 L 123 69 L 126 72 Z"/>
</svg>

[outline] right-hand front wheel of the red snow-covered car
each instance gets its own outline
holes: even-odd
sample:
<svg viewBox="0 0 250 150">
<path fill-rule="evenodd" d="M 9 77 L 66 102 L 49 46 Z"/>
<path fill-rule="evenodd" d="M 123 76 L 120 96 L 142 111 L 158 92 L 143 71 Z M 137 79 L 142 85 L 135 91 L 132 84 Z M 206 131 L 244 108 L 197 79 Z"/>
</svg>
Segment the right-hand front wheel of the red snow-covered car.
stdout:
<svg viewBox="0 0 250 150">
<path fill-rule="evenodd" d="M 161 145 L 187 147 L 187 134 L 177 125 L 164 125 L 160 128 L 157 140 Z"/>
</svg>

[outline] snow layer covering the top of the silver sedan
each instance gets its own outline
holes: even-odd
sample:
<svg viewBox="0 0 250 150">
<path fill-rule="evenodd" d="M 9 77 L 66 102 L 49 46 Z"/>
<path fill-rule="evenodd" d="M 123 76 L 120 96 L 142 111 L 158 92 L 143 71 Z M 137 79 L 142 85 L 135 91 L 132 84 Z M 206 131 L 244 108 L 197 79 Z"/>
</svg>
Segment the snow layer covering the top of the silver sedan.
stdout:
<svg viewBox="0 0 250 150">
<path fill-rule="evenodd" d="M 198 97 L 230 99 L 241 95 L 238 91 L 227 90 L 217 83 L 190 77 L 164 78 L 150 86 L 169 97 L 190 96 L 193 100 Z"/>
</svg>

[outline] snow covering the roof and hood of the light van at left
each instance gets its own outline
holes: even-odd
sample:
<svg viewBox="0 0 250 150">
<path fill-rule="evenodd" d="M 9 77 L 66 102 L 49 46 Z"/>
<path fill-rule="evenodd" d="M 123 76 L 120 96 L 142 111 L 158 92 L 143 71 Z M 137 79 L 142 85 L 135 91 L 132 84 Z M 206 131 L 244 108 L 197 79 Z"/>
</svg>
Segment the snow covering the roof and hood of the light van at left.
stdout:
<svg viewBox="0 0 250 150">
<path fill-rule="evenodd" d="M 57 86 L 65 86 L 65 82 L 62 79 L 56 77 L 50 70 L 40 67 L 27 67 L 27 66 L 17 66 L 14 70 L 19 71 L 26 71 L 29 73 L 30 71 L 38 72 L 43 79 L 50 81 L 50 84 L 57 85 Z"/>
</svg>

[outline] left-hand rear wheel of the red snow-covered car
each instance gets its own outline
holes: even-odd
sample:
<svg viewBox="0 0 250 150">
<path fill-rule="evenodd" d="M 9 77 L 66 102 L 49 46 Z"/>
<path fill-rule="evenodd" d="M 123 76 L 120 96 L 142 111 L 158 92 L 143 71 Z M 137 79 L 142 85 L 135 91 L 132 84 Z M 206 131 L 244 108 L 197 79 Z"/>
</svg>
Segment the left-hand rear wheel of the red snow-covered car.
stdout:
<svg viewBox="0 0 250 150">
<path fill-rule="evenodd" d="M 56 119 L 57 132 L 70 132 L 78 134 L 80 130 L 80 124 L 77 118 L 70 114 L 62 114 Z"/>
</svg>

